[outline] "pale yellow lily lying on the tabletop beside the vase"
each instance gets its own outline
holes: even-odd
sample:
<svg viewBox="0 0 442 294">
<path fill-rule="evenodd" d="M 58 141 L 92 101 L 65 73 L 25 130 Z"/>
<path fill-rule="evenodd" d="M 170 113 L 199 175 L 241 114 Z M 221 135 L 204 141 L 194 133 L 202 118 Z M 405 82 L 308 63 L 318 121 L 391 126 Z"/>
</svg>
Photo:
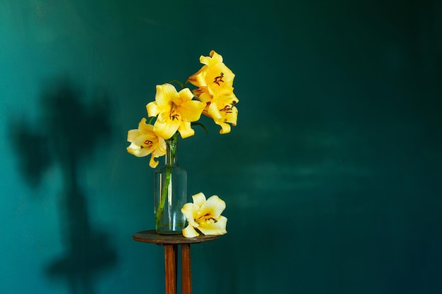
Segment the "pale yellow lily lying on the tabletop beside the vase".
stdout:
<svg viewBox="0 0 442 294">
<path fill-rule="evenodd" d="M 189 223 L 182 231 L 184 237 L 194 238 L 200 235 L 198 231 L 204 235 L 224 235 L 227 233 L 227 218 L 221 215 L 226 207 L 225 202 L 216 195 L 205 200 L 205 195 L 202 192 L 193 195 L 192 198 L 193 203 L 186 203 L 181 209 Z"/>
</svg>

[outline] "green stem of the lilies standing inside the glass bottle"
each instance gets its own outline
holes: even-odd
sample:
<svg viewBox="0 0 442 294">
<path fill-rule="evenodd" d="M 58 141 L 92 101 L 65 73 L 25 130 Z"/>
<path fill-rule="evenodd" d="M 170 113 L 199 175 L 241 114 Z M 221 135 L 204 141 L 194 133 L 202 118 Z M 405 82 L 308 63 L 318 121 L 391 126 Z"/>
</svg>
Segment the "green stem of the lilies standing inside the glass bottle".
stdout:
<svg viewBox="0 0 442 294">
<path fill-rule="evenodd" d="M 174 164 L 175 153 L 177 152 L 177 138 L 179 133 L 175 133 L 171 138 L 165 140 L 167 146 L 167 159 L 166 159 L 166 178 L 164 185 L 162 185 L 161 195 L 160 195 L 160 204 L 157 209 L 157 214 L 155 215 L 155 230 L 158 229 L 160 225 L 162 212 L 165 209 L 167 191 L 169 190 L 170 180 L 172 178 L 172 166 Z"/>
</svg>

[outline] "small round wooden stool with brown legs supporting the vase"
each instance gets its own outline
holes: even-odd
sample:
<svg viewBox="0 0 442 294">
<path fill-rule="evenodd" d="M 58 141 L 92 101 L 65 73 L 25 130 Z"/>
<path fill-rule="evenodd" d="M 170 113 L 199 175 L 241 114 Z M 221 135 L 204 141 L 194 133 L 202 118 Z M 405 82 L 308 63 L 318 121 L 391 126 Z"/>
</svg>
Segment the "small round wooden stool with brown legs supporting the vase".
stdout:
<svg viewBox="0 0 442 294">
<path fill-rule="evenodd" d="M 132 235 L 133 240 L 155 243 L 165 247 L 166 294 L 177 294 L 178 245 L 181 245 L 181 293 L 192 293 L 191 244 L 216 240 L 217 235 L 199 235 L 186 238 L 183 235 L 160 235 L 155 230 L 141 231 Z"/>
</svg>

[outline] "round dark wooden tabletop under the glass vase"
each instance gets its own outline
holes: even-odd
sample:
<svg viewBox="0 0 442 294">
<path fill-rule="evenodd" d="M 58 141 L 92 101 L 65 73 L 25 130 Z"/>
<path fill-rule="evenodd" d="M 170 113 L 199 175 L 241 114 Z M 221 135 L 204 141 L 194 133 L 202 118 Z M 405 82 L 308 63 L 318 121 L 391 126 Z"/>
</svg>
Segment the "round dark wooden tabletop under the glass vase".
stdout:
<svg viewBox="0 0 442 294">
<path fill-rule="evenodd" d="M 155 230 L 141 231 L 132 235 L 133 240 L 157 245 L 193 244 L 202 243 L 219 238 L 218 235 L 198 235 L 195 238 L 186 238 L 182 234 L 163 235 Z"/>
</svg>

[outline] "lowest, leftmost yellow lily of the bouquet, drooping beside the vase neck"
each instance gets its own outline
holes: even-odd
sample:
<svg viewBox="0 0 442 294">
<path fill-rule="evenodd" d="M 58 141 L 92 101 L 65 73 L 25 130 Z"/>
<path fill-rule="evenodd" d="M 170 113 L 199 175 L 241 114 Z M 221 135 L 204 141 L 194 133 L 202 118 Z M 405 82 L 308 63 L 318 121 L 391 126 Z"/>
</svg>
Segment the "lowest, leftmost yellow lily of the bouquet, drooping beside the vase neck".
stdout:
<svg viewBox="0 0 442 294">
<path fill-rule="evenodd" d="M 127 132 L 127 140 L 131 142 L 131 145 L 126 150 L 136 157 L 145 157 L 152 154 L 149 166 L 155 168 L 158 165 L 158 161 L 155 161 L 155 158 L 166 154 L 166 142 L 162 137 L 158 137 L 155 134 L 153 125 L 145 122 L 146 119 L 142 118 L 140 123 L 138 123 L 138 129 Z"/>
</svg>

